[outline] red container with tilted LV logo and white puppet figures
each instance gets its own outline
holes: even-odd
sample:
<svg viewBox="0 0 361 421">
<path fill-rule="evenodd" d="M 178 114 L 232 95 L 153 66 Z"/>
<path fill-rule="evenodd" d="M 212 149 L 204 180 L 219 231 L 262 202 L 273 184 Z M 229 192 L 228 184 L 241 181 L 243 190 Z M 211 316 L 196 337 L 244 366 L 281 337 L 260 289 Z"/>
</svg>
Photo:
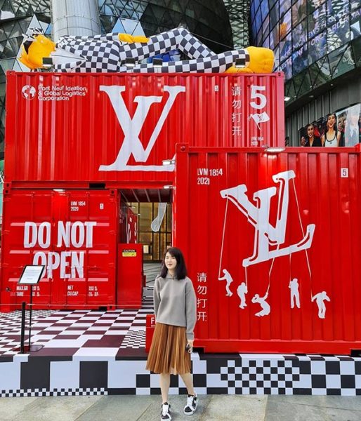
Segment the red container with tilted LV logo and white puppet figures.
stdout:
<svg viewBox="0 0 361 421">
<path fill-rule="evenodd" d="M 353 148 L 178 145 L 173 242 L 197 291 L 195 346 L 360 350 L 360 186 Z"/>
</svg>

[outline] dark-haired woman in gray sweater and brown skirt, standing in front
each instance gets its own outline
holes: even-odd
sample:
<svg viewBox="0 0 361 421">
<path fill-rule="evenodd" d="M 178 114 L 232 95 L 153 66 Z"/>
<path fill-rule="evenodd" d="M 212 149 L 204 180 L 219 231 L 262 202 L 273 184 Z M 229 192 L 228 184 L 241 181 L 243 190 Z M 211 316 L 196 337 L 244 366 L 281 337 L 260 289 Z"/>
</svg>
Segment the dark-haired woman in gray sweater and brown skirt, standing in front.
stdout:
<svg viewBox="0 0 361 421">
<path fill-rule="evenodd" d="M 146 369 L 160 374 L 161 420 L 171 420 L 168 403 L 171 374 L 179 374 L 188 390 L 183 413 L 192 415 L 198 403 L 190 374 L 196 297 L 183 254 L 176 247 L 166 250 L 161 273 L 155 279 L 153 297 L 156 323 Z"/>
</svg>

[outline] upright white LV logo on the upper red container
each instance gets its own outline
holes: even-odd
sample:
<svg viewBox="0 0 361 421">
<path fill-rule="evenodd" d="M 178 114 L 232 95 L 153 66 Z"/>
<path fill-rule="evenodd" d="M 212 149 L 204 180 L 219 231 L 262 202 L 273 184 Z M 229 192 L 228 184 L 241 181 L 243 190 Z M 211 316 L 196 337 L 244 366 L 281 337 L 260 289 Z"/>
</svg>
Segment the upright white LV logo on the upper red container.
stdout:
<svg viewBox="0 0 361 421">
<path fill-rule="evenodd" d="M 164 91 L 169 93 L 169 98 L 166 100 L 166 104 L 162 109 L 162 114 L 157 121 L 155 129 L 150 136 L 150 140 L 147 147 L 144 149 L 139 139 L 139 133 L 143 128 L 145 119 L 150 110 L 150 106 L 154 102 L 161 102 L 162 96 L 140 96 L 138 95 L 134 102 L 138 102 L 136 112 L 133 115 L 133 119 L 129 114 L 128 109 L 124 103 L 122 92 L 126 90 L 125 86 L 100 86 L 100 91 L 105 92 L 112 102 L 112 107 L 120 126 L 124 132 L 124 140 L 122 146 L 119 149 L 117 158 L 110 165 L 100 165 L 99 171 L 174 171 L 174 165 L 127 165 L 129 157 L 134 156 L 137 162 L 146 162 L 152 148 L 155 145 L 155 141 L 162 130 L 164 121 L 171 111 L 171 107 L 176 100 L 178 93 L 185 92 L 185 86 L 164 86 Z M 167 156 L 164 156 L 166 159 Z M 170 158 L 170 157 L 168 157 Z"/>
</svg>

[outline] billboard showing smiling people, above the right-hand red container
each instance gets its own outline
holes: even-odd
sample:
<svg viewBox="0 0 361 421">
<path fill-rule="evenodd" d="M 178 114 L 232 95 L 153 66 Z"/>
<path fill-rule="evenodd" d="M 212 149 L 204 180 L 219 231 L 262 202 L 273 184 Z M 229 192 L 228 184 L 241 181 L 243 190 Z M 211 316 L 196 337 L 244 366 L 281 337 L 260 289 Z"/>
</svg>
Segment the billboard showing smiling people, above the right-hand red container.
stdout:
<svg viewBox="0 0 361 421">
<path fill-rule="evenodd" d="M 361 142 L 361 103 L 308 123 L 298 130 L 301 146 L 352 147 Z"/>
</svg>

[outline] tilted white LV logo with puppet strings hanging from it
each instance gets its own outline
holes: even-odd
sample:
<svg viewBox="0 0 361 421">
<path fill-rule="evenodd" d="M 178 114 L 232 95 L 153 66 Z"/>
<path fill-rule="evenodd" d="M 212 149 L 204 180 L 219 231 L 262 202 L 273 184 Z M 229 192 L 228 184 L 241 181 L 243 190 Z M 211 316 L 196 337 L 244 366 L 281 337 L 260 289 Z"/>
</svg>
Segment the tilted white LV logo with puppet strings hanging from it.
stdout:
<svg viewBox="0 0 361 421">
<path fill-rule="evenodd" d="M 276 187 L 268 187 L 268 189 L 255 192 L 253 199 L 256 202 L 256 206 L 247 197 L 246 185 L 221 190 L 223 199 L 230 199 L 247 216 L 247 220 L 256 229 L 254 235 L 254 253 L 250 258 L 243 260 L 242 265 L 244 267 L 310 248 L 315 232 L 315 224 L 307 226 L 306 234 L 301 241 L 291 246 L 280 248 L 280 245 L 284 243 L 284 237 L 286 235 L 289 180 L 294 177 L 294 171 L 284 171 L 283 173 L 273 175 L 273 181 L 280 183 L 275 227 L 270 224 L 270 199 L 275 196 L 277 192 Z M 270 246 L 277 246 L 277 248 L 270 250 Z"/>
</svg>

